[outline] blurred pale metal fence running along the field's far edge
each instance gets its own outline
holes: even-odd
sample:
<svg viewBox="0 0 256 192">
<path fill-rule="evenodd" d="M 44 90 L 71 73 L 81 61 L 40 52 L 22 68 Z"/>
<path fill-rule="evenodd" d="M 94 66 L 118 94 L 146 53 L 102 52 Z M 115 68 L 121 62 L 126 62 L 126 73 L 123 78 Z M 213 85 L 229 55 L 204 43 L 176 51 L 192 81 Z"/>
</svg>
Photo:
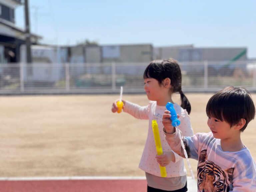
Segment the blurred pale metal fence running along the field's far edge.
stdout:
<svg viewBox="0 0 256 192">
<path fill-rule="evenodd" d="M 143 93 L 148 63 L 0 64 L 0 94 Z M 184 92 L 256 91 L 256 61 L 182 62 Z"/>
</svg>

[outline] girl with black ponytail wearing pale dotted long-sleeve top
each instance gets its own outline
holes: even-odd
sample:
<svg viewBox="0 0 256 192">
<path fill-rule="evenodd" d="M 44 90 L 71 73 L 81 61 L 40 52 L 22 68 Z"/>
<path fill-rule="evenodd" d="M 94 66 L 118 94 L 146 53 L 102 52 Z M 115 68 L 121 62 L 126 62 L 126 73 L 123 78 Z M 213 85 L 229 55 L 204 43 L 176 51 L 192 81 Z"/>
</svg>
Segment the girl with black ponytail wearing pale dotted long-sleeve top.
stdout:
<svg viewBox="0 0 256 192">
<path fill-rule="evenodd" d="M 146 172 L 148 192 L 151 191 L 187 191 L 187 176 L 183 159 L 174 153 L 168 145 L 162 131 L 162 114 L 166 110 L 167 102 L 173 103 L 172 94 L 179 92 L 181 106 L 174 103 L 177 114 L 180 115 L 179 129 L 183 135 L 192 136 L 188 114 L 191 111 L 190 103 L 181 90 L 181 70 L 174 59 L 154 60 L 144 71 L 144 89 L 150 100 L 147 106 L 141 107 L 129 101 L 124 101 L 123 111 L 138 119 L 148 119 L 148 137 L 141 157 L 139 168 Z M 117 112 L 116 102 L 112 105 L 112 112 Z M 159 126 L 163 154 L 157 156 L 155 141 L 151 127 L 152 120 Z M 167 177 L 161 177 L 159 165 L 166 167 Z"/>
</svg>

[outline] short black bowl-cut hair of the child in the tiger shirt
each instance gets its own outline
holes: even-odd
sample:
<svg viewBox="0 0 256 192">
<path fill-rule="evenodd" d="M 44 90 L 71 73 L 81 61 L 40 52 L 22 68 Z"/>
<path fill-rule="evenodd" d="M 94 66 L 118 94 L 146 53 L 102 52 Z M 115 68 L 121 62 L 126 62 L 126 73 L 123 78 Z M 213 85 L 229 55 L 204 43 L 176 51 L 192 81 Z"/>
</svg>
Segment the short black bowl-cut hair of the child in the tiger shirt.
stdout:
<svg viewBox="0 0 256 192">
<path fill-rule="evenodd" d="M 245 125 L 240 129 L 243 132 L 248 123 L 254 119 L 255 106 L 249 91 L 230 86 L 218 91 L 209 99 L 206 114 L 208 117 L 226 121 L 230 127 L 243 118 L 246 120 Z"/>
</svg>

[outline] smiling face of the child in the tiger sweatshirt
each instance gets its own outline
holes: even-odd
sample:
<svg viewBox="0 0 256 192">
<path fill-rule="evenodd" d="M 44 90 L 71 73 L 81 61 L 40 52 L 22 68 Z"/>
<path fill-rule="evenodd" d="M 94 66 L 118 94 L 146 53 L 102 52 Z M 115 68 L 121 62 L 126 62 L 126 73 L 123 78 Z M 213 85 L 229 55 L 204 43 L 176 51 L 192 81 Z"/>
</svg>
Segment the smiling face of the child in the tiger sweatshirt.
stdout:
<svg viewBox="0 0 256 192">
<path fill-rule="evenodd" d="M 208 117 L 207 125 L 216 139 L 228 139 L 233 136 L 233 130 L 229 123 L 220 121 L 214 117 Z"/>
</svg>

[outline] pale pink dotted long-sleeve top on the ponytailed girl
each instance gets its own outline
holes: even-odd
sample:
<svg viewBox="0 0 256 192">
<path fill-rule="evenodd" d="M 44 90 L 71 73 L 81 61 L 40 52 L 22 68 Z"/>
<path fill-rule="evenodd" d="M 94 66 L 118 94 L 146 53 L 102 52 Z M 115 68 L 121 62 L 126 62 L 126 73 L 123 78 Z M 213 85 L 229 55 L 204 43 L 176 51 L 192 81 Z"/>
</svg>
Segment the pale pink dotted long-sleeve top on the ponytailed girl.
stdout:
<svg viewBox="0 0 256 192">
<path fill-rule="evenodd" d="M 174 103 L 174 108 L 177 114 L 180 115 L 181 121 L 179 128 L 182 130 L 183 135 L 192 136 L 193 130 L 190 124 L 190 118 L 186 110 L 181 108 L 178 104 Z M 156 147 L 154 134 L 152 131 L 152 120 L 156 120 L 159 128 L 160 140 L 163 151 L 172 151 L 168 145 L 165 135 L 162 132 L 162 116 L 166 110 L 165 106 L 158 106 L 156 101 L 150 101 L 147 106 L 141 107 L 137 104 L 126 101 L 124 106 L 124 112 L 127 112 L 137 119 L 148 119 L 148 136 L 146 144 L 142 153 L 139 168 L 147 173 L 161 177 L 159 164 L 156 161 Z M 186 175 L 186 169 L 182 157 L 174 153 L 175 163 L 170 162 L 166 166 L 167 177 L 178 177 Z"/>
</svg>

